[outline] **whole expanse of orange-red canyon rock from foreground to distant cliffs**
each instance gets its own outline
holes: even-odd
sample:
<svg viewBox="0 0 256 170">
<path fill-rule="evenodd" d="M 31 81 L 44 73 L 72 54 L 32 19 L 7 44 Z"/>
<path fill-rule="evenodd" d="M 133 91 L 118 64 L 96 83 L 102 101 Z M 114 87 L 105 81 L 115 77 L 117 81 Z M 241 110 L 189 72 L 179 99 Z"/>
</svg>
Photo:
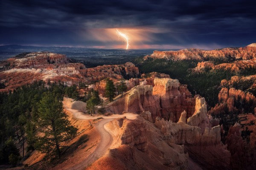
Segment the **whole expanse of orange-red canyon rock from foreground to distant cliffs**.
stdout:
<svg viewBox="0 0 256 170">
<path fill-rule="evenodd" d="M 184 49 L 154 51 L 144 60 L 199 60 L 190 74 L 216 70 L 239 73 L 254 69 L 255 44 L 243 48 L 212 51 Z M 216 64 L 209 58 L 234 59 Z M 228 170 L 256 167 L 256 97 L 255 75 L 234 75 L 218 85 L 218 102 L 209 107 L 204 96 L 190 91 L 189 85 L 170 75 L 148 72 L 141 74 L 131 62 L 87 68 L 62 54 L 33 52 L 0 62 L 1 92 L 30 84 L 36 80 L 59 83 L 76 89 L 84 96 L 90 89 L 98 91 L 105 115 L 89 116 L 87 104 L 64 97 L 63 111 L 79 134 L 68 145 L 71 149 L 57 165 L 43 162 L 44 155 L 33 151 L 24 161 L 29 167 L 41 169 L 166 169 L 166 170 Z M 117 87 L 123 81 L 124 94 L 115 92 L 112 102 L 106 98 L 106 78 Z M 250 82 L 243 85 L 244 82 Z M 79 83 L 86 87 L 80 88 Z M 243 85 L 240 89 L 239 85 Z M 247 108 L 247 110 L 246 110 Z M 228 113 L 228 115 L 227 115 Z M 238 115 L 232 125 L 223 119 Z M 225 117 L 226 116 L 226 117 Z M 253 122 L 254 121 L 254 122 Z M 247 130 L 247 131 L 246 131 Z M 249 135 L 245 132 L 250 132 Z M 86 144 L 77 147 L 81 135 L 89 135 Z M 71 154 L 70 154 L 71 153 Z M 250 164 L 245 167 L 244 164 Z"/>
</svg>

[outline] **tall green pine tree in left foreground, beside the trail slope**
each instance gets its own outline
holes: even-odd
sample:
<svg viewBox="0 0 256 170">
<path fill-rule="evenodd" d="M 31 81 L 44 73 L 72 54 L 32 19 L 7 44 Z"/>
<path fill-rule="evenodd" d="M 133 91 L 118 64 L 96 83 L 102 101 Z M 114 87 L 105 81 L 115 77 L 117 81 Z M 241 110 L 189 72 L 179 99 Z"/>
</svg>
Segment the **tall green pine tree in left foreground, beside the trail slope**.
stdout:
<svg viewBox="0 0 256 170">
<path fill-rule="evenodd" d="M 62 102 L 51 92 L 44 93 L 38 108 L 38 126 L 42 137 L 38 137 L 36 148 L 42 153 L 54 149 L 60 158 L 60 147 L 76 136 L 77 128 L 70 125 L 67 115 L 62 111 Z"/>
</svg>

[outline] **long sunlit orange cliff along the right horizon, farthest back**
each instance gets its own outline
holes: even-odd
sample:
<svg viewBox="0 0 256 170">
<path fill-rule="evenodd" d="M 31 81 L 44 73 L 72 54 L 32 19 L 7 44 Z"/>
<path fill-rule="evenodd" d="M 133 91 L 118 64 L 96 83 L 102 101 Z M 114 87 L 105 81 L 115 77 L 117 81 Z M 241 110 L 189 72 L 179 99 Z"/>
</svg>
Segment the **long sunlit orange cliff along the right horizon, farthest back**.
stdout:
<svg viewBox="0 0 256 170">
<path fill-rule="evenodd" d="M 215 50 L 201 50 L 196 48 L 182 49 L 178 51 L 154 51 L 153 54 L 147 55 L 144 59 L 172 59 L 172 60 L 204 60 L 209 58 L 217 59 L 253 59 L 256 57 L 256 48 L 254 45 L 248 45 L 241 48 L 222 48 Z"/>
</svg>

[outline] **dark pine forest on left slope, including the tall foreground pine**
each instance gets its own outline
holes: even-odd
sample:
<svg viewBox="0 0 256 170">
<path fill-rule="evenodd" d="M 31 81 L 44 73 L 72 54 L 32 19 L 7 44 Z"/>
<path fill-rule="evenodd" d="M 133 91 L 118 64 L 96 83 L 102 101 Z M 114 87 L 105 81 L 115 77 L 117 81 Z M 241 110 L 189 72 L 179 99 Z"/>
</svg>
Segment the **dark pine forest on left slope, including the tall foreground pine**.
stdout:
<svg viewBox="0 0 256 170">
<path fill-rule="evenodd" d="M 53 153 L 61 155 L 58 150 L 62 142 L 76 134 L 76 128 L 70 126 L 62 113 L 64 95 L 79 98 L 76 86 L 51 83 L 46 88 L 43 81 L 24 85 L 13 92 L 0 93 L 0 164 L 15 165 L 25 153 L 34 149 L 47 152 L 46 149 L 53 148 L 56 151 Z M 47 131 L 47 128 L 52 131 Z M 38 129 L 43 137 L 36 135 Z M 53 138 L 49 139 L 49 136 Z"/>
</svg>

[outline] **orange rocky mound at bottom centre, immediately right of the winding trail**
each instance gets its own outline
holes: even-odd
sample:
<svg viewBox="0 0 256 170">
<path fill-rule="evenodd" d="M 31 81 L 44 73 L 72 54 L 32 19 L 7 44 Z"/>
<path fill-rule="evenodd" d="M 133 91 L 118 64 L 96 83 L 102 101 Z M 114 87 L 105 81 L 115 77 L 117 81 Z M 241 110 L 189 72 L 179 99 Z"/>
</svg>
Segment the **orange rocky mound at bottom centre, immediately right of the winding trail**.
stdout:
<svg viewBox="0 0 256 170">
<path fill-rule="evenodd" d="M 142 117 L 114 119 L 106 127 L 114 136 L 113 143 L 109 153 L 93 163 L 91 169 L 100 169 L 102 164 L 108 169 L 187 169 L 184 147 L 163 140 L 160 130 Z"/>
</svg>

